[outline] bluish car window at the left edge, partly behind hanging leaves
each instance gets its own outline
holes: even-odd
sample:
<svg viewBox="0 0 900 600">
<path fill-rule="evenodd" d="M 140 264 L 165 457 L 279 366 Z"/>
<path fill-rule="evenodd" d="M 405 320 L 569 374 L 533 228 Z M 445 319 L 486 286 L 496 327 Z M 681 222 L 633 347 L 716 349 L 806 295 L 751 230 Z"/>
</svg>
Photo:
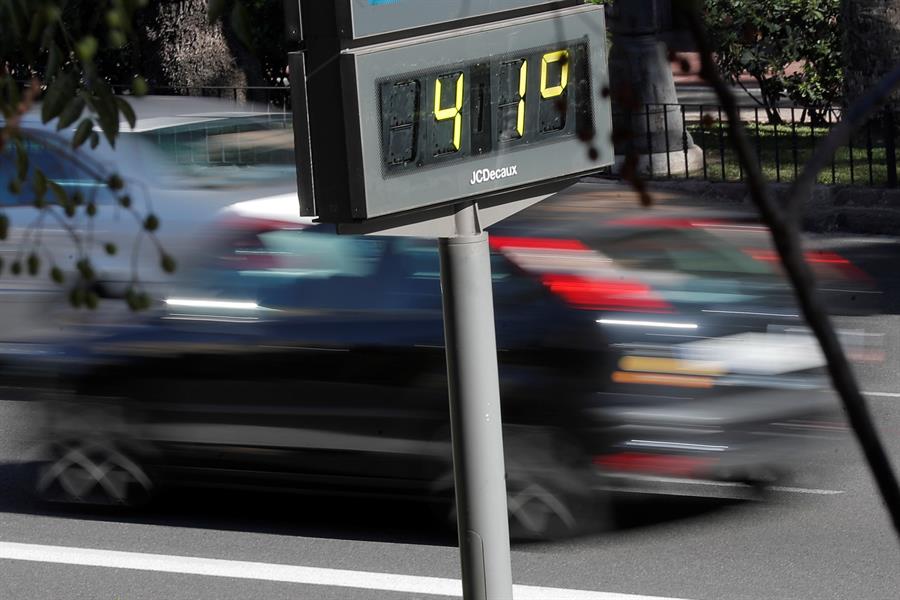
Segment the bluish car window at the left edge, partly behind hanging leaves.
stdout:
<svg viewBox="0 0 900 600">
<path fill-rule="evenodd" d="M 69 194 L 79 191 L 86 200 L 97 204 L 113 202 L 112 193 L 106 184 L 76 163 L 65 150 L 35 140 L 25 140 L 23 144 L 28 154 L 29 177 L 19 194 L 13 194 L 9 190 L 9 183 L 16 177 L 17 167 L 15 148 L 12 144 L 7 144 L 0 157 L 0 205 L 30 206 L 34 203 L 35 192 L 31 183 L 34 169 L 40 169 L 48 179 L 58 183 Z"/>
</svg>

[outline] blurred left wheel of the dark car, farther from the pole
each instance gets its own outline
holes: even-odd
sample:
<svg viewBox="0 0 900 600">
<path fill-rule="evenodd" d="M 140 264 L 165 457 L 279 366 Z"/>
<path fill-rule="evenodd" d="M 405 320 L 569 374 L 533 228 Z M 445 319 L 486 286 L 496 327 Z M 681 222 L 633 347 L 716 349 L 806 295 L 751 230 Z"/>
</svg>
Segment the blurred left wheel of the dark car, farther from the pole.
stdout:
<svg viewBox="0 0 900 600">
<path fill-rule="evenodd" d="M 73 440 L 54 444 L 50 454 L 37 473 L 43 500 L 134 507 L 153 494 L 147 472 L 114 444 Z"/>
</svg>

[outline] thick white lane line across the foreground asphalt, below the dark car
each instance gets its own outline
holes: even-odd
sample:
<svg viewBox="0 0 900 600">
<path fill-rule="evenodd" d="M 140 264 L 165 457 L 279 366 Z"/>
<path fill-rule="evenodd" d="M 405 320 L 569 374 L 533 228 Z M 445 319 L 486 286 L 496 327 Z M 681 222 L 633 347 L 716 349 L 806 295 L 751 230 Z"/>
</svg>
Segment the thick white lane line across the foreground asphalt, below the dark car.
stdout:
<svg viewBox="0 0 900 600">
<path fill-rule="evenodd" d="M 219 558 L 98 550 L 95 548 L 0 542 L 0 559 L 203 575 L 207 577 L 232 577 L 235 579 L 324 585 L 406 594 L 426 594 L 430 596 L 456 598 L 462 596 L 462 584 L 460 581 L 443 577 L 300 567 L 241 560 L 223 560 Z M 530 585 L 513 586 L 513 597 L 515 600 L 679 600 L 661 596 L 594 592 Z"/>
</svg>

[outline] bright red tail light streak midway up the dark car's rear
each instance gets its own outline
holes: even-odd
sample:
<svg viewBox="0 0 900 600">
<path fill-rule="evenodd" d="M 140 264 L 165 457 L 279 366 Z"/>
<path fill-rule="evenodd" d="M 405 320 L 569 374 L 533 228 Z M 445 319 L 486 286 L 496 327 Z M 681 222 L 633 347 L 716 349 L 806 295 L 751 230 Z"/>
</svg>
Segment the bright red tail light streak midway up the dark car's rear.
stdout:
<svg viewBox="0 0 900 600">
<path fill-rule="evenodd" d="M 586 310 L 671 312 L 672 307 L 642 283 L 547 273 L 541 281 L 569 304 Z"/>
</svg>

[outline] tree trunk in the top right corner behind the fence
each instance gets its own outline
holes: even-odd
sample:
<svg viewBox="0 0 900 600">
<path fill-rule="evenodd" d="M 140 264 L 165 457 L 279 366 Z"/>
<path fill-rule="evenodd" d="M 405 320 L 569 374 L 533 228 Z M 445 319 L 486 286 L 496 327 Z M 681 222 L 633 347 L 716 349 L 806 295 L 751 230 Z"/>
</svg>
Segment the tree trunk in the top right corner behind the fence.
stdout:
<svg viewBox="0 0 900 600">
<path fill-rule="evenodd" d="M 900 65 L 900 0 L 843 0 L 844 88 L 849 106 Z M 900 92 L 890 104 L 900 109 Z"/>
</svg>

